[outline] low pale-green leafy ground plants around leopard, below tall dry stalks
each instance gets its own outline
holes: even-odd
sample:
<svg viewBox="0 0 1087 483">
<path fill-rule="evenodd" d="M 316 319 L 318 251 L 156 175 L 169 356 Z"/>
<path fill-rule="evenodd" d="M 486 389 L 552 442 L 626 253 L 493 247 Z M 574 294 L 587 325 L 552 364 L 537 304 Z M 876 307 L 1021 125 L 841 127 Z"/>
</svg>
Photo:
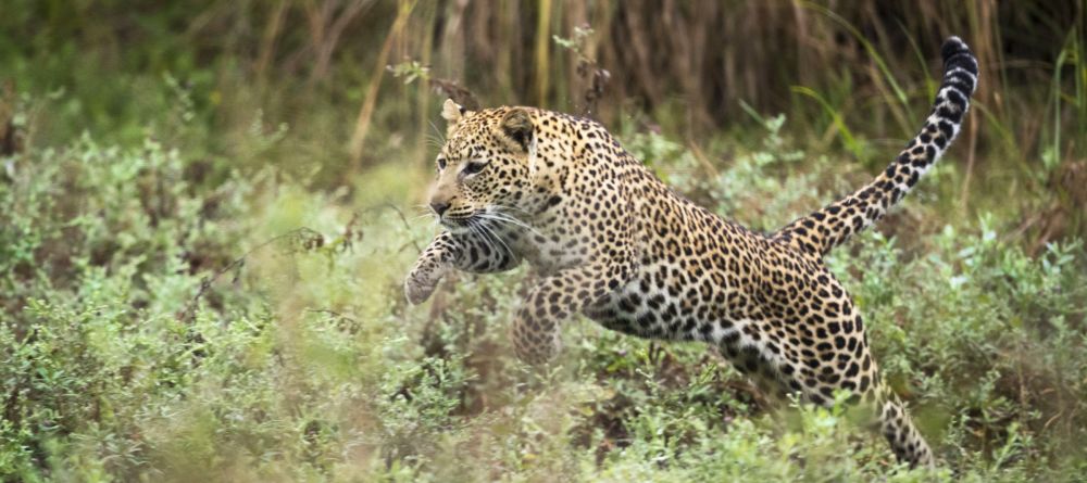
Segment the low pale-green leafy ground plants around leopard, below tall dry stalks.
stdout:
<svg viewBox="0 0 1087 483">
<path fill-rule="evenodd" d="M 770 229 L 827 199 L 817 187 L 848 166 L 811 162 L 779 136 L 784 118 L 763 122 L 771 130 L 725 166 L 660 136 L 624 138 L 680 190 Z M 373 169 L 327 192 L 274 168 L 209 180 L 184 145 L 91 137 L 7 163 L 10 479 L 934 476 L 896 466 L 842 408 L 772 416 L 701 345 L 579 321 L 557 367 L 521 366 L 505 333 L 524 270 L 459 275 L 409 308 L 401 277 L 433 234 L 407 207 L 420 169 Z M 950 175 L 832 265 L 946 461 L 939 479 L 1073 481 L 1087 471 L 1083 245 L 1026 256 L 994 216 L 904 232 L 913 217 L 940 219 L 929 202 Z M 887 234 L 899 231 L 909 241 Z"/>
</svg>

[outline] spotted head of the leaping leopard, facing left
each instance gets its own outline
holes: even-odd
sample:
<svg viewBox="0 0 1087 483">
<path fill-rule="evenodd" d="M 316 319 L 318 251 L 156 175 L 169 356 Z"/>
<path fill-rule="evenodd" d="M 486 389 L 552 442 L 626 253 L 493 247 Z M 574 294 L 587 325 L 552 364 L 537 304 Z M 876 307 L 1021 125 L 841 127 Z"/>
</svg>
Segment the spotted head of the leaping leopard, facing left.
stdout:
<svg viewBox="0 0 1087 483">
<path fill-rule="evenodd" d="M 527 212 L 536 151 L 534 111 L 497 107 L 468 111 L 451 99 L 442 106 L 447 140 L 438 157 L 429 205 L 453 232 L 497 216 Z"/>
</svg>

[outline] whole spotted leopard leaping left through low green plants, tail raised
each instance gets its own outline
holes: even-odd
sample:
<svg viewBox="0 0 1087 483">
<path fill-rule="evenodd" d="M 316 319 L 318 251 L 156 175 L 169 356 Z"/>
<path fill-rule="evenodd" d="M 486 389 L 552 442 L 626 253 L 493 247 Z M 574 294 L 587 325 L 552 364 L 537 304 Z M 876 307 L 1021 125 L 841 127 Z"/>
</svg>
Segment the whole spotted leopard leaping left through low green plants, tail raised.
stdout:
<svg viewBox="0 0 1087 483">
<path fill-rule="evenodd" d="M 584 315 L 637 338 L 700 341 L 776 398 L 815 406 L 841 392 L 910 467 L 933 450 L 880 378 L 853 298 L 825 256 L 897 205 L 959 134 L 978 80 L 948 38 L 923 127 L 857 191 L 773 232 L 689 201 L 598 122 L 529 106 L 467 110 L 447 100 L 428 204 L 441 227 L 404 281 L 425 302 L 451 270 L 537 274 L 510 327 L 516 357 L 548 365 L 560 328 Z M 860 403 L 859 403 L 860 404 Z"/>
</svg>

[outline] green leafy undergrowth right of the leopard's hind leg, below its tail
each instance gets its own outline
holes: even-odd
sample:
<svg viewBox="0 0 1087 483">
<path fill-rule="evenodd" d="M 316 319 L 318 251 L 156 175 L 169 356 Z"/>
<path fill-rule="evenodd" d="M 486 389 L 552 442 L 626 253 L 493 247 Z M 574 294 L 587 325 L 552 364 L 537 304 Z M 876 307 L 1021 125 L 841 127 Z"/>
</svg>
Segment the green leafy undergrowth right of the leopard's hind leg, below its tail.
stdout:
<svg viewBox="0 0 1087 483">
<path fill-rule="evenodd" d="M 1063 419 L 1087 394 L 1082 243 L 1030 258 L 991 217 L 976 229 L 948 226 L 912 259 L 876 232 L 835 271 L 850 276 L 887 379 L 916 397 L 927 433 L 947 430 L 949 458 L 991 458 L 994 473 L 1082 465 L 1084 421 Z"/>
</svg>

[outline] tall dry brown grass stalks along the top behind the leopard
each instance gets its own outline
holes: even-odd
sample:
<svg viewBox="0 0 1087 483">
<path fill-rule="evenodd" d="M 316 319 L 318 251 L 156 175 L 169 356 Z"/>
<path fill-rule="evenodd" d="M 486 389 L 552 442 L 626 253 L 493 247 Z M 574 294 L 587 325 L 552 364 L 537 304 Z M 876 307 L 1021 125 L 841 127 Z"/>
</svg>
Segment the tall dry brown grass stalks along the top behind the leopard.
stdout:
<svg viewBox="0 0 1087 483">
<path fill-rule="evenodd" d="M 313 129 L 335 142 L 320 149 L 341 151 L 353 170 L 389 157 L 380 141 L 390 132 L 415 145 L 433 134 L 435 93 L 386 75 L 390 64 L 417 61 L 483 104 L 584 112 L 594 80 L 578 72 L 579 58 L 611 73 L 594 113 L 605 124 L 642 111 L 673 135 L 705 139 L 751 126 L 746 103 L 788 114 L 795 134 L 875 169 L 923 116 L 940 42 L 952 34 L 983 68 L 961 205 L 996 187 L 1045 193 L 1061 183 L 1059 166 L 1087 157 L 1082 0 L 13 1 L 30 14 L 0 21 L 11 36 L 4 49 L 61 51 L 74 41 L 111 71 L 214 69 L 224 104 L 255 86 L 246 105 L 292 126 L 332 105 L 340 120 Z M 586 25 L 594 33 L 579 55 L 552 39 Z M 154 48 L 126 48 L 136 42 Z M 860 135 L 873 141 L 854 142 Z"/>
</svg>

